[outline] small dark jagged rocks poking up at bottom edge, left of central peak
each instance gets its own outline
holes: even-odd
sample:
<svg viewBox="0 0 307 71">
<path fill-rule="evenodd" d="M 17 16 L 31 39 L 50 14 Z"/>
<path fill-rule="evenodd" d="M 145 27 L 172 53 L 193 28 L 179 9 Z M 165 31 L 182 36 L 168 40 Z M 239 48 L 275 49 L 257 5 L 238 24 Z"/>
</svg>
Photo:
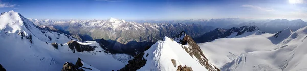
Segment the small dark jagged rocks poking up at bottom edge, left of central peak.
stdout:
<svg viewBox="0 0 307 71">
<path fill-rule="evenodd" d="M 84 71 L 84 69 L 92 70 L 91 68 L 82 67 L 83 63 L 81 61 L 82 60 L 78 58 L 75 65 L 70 62 L 65 62 L 62 71 Z"/>
</svg>

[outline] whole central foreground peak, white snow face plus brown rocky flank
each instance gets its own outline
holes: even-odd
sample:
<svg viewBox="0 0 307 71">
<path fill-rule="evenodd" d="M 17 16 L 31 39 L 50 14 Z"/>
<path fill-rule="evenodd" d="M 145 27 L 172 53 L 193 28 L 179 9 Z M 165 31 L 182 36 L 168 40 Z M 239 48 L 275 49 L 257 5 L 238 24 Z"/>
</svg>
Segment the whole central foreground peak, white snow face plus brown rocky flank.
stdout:
<svg viewBox="0 0 307 71">
<path fill-rule="evenodd" d="M 144 53 L 147 61 L 139 70 L 219 70 L 208 62 L 199 46 L 185 32 L 174 39 L 164 37 Z"/>
</svg>

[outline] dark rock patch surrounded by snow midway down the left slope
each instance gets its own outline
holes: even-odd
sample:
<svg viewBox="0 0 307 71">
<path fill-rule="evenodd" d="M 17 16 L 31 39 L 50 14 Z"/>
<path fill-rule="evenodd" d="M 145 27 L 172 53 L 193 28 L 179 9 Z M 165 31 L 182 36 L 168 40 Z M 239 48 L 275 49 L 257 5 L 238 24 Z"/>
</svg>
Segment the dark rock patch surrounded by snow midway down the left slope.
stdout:
<svg viewBox="0 0 307 71">
<path fill-rule="evenodd" d="M 77 41 L 72 41 L 72 40 L 67 42 L 67 45 L 73 51 L 73 53 L 75 53 L 76 51 L 77 52 L 94 51 L 95 48 L 97 48 L 97 46 L 82 45 L 82 44 L 79 44 Z"/>
</svg>

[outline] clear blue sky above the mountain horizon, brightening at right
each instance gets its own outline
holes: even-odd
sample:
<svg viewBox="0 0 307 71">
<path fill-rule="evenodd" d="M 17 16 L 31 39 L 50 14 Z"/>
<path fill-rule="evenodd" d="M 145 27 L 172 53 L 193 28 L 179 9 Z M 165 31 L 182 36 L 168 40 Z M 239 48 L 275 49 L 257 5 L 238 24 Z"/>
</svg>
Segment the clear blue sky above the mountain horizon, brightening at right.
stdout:
<svg viewBox="0 0 307 71">
<path fill-rule="evenodd" d="M 10 10 L 26 18 L 54 20 L 307 20 L 307 0 L 0 0 L 0 12 Z"/>
</svg>

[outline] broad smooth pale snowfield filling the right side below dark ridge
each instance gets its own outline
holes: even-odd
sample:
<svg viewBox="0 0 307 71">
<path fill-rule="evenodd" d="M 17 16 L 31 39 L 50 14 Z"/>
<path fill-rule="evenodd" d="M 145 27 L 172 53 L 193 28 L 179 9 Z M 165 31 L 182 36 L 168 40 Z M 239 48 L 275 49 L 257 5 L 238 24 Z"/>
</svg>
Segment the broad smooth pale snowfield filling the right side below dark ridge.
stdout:
<svg viewBox="0 0 307 71">
<path fill-rule="evenodd" d="M 305 70 L 307 27 L 198 44 L 221 70 Z"/>
</svg>

